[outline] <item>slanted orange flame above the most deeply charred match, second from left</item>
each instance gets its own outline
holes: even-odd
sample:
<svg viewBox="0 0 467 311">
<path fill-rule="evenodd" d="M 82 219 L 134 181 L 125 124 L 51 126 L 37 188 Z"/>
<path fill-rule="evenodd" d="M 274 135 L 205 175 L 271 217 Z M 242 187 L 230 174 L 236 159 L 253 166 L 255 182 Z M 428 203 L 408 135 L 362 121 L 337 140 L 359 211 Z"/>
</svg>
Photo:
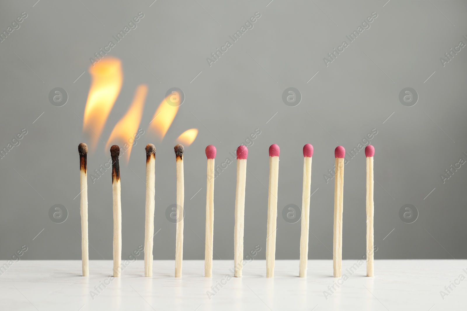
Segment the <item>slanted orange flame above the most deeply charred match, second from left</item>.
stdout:
<svg viewBox="0 0 467 311">
<path fill-rule="evenodd" d="M 141 117 L 143 114 L 144 102 L 146 100 L 146 95 L 148 94 L 148 86 L 146 84 L 141 84 L 136 88 L 134 93 L 133 103 L 131 103 L 130 108 L 128 108 L 127 113 L 120 119 L 115 127 L 110 133 L 109 140 L 106 144 L 106 150 L 111 142 L 119 140 L 123 142 L 123 147 L 120 148 L 120 154 L 125 152 L 127 158 L 127 164 L 130 160 L 131 148 L 134 144 L 134 138 L 136 132 L 138 131 L 138 126 L 141 122 Z"/>
</svg>

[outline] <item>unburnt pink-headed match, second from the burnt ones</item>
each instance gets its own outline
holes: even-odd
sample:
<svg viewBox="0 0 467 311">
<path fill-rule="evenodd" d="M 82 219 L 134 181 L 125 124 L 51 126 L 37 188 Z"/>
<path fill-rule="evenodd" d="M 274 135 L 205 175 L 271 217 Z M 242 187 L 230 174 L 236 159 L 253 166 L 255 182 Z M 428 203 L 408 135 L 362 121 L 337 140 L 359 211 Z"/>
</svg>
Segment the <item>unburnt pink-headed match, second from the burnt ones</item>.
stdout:
<svg viewBox="0 0 467 311">
<path fill-rule="evenodd" d="M 235 227 L 233 232 L 233 276 L 241 277 L 243 269 L 243 224 L 245 221 L 245 186 L 247 183 L 248 148 L 237 148 L 237 188 L 235 190 Z"/>
</svg>

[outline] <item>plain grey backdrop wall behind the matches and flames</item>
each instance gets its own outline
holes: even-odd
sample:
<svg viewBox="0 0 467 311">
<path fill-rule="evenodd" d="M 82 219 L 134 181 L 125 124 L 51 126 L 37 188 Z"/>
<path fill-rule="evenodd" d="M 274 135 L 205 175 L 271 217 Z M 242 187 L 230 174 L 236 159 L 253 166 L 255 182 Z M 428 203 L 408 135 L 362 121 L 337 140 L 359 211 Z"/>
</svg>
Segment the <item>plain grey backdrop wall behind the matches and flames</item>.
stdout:
<svg viewBox="0 0 467 311">
<path fill-rule="evenodd" d="M 284 221 L 282 209 L 301 206 L 302 147 L 311 143 L 311 191 L 318 190 L 311 196 L 309 258 L 331 259 L 334 185 L 323 175 L 333 168 L 337 145 L 349 150 L 376 129 L 375 258 L 467 258 L 467 168 L 461 166 L 444 184 L 440 178 L 460 157 L 467 159 L 462 154 L 467 50 L 445 67 L 439 60 L 459 41 L 467 43 L 466 9 L 465 1 L 439 0 L 3 1 L 2 31 L 21 12 L 28 17 L 0 43 L 0 146 L 23 128 L 28 134 L 0 160 L 0 258 L 8 259 L 21 245 L 28 246 L 23 259 L 81 258 L 79 196 L 73 198 L 80 189 L 77 146 L 89 142 L 81 120 L 91 82 L 89 58 L 138 12 L 144 18 L 110 52 L 122 61 L 124 82 L 101 135 L 108 139 L 136 86 L 147 83 L 140 124 L 146 134 L 129 165 L 121 165 L 123 257 L 143 244 L 146 144 L 157 149 L 155 230 L 160 231 L 154 256 L 173 259 L 175 225 L 165 218 L 175 203 L 173 146 L 183 131 L 199 129 L 184 156 L 184 259 L 203 259 L 205 146 L 217 147 L 220 164 L 233 159 L 229 152 L 259 128 L 248 148 L 245 253 L 255 245 L 265 249 L 268 147 L 276 143 L 281 147 L 276 258 L 299 258 L 300 222 Z M 206 57 L 231 41 L 228 36 L 255 12 L 261 18 L 254 28 L 209 67 Z M 323 57 L 348 41 L 345 36 L 372 12 L 378 17 L 371 27 L 326 67 Z M 48 100 L 56 87 L 68 93 L 63 107 Z M 161 143 L 147 128 L 172 87 L 184 90 L 186 99 Z M 301 92 L 296 107 L 282 101 L 288 87 Z M 398 99 L 406 87 L 418 93 L 412 107 Z M 89 171 L 107 162 L 104 146 L 99 141 L 88 157 Z M 345 167 L 344 259 L 365 253 L 364 168 L 363 151 Z M 111 173 L 92 184 L 91 172 L 89 256 L 112 259 Z M 214 259 L 233 258 L 235 172 L 233 163 L 215 180 Z M 63 223 L 49 218 L 54 204 L 68 209 Z M 418 209 L 414 223 L 399 218 L 405 204 Z"/>
</svg>

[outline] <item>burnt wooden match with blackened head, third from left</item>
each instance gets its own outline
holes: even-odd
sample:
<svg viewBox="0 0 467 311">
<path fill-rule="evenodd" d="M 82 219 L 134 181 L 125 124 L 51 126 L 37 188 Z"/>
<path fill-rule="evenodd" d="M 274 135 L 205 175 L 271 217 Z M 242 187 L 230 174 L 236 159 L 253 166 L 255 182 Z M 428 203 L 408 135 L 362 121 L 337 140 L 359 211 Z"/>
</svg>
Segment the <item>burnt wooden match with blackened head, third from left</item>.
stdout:
<svg viewBox="0 0 467 311">
<path fill-rule="evenodd" d="M 146 223 L 144 230 L 144 276 L 152 276 L 152 248 L 154 245 L 154 194 L 155 194 L 156 147 L 146 145 Z"/>
</svg>

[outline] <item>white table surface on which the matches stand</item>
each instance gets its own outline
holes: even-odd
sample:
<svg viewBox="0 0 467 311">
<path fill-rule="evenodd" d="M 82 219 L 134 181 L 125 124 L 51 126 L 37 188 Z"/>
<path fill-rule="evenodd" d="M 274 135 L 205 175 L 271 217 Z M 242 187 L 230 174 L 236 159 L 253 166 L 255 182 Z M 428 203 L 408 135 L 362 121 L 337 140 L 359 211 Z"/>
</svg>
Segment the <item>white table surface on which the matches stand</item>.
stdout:
<svg viewBox="0 0 467 311">
<path fill-rule="evenodd" d="M 310 260 L 308 277 L 298 277 L 298 260 L 276 261 L 275 277 L 267 279 L 264 260 L 243 268 L 243 277 L 228 280 L 232 260 L 215 260 L 212 278 L 204 277 L 204 261 L 185 260 L 183 277 L 174 278 L 174 261 L 154 261 L 154 276 L 144 277 L 144 263 L 130 263 L 98 296 L 90 291 L 111 276 L 112 261 L 90 261 L 90 276 L 81 276 L 81 261 L 26 261 L 0 276 L 0 310 L 466 310 L 467 279 L 444 299 L 450 281 L 467 277 L 467 260 L 376 260 L 375 277 L 366 277 L 363 263 L 325 297 L 337 281 L 331 260 Z M 357 264 L 358 265 L 358 264 Z M 212 297 L 206 291 L 226 283 Z M 96 291 L 97 293 L 97 291 Z M 447 293 L 447 292 L 446 292 Z"/>
</svg>

